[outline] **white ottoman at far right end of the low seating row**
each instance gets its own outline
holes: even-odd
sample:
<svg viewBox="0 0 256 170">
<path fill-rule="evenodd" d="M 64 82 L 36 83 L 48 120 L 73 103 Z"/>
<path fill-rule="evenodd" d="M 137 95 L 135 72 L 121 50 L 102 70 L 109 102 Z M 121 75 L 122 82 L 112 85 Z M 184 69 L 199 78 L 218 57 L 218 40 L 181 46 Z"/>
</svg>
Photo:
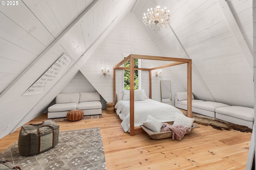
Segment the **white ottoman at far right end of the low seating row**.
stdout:
<svg viewBox="0 0 256 170">
<path fill-rule="evenodd" d="M 253 128 L 254 109 L 241 106 L 220 107 L 216 110 L 216 119 Z"/>
</svg>

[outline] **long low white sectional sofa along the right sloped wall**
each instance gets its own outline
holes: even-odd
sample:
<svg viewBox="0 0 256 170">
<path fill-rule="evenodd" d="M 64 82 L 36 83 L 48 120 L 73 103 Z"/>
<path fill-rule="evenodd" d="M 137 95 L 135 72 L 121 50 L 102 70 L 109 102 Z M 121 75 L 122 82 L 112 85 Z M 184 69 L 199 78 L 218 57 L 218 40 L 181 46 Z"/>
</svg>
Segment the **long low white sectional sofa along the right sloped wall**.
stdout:
<svg viewBox="0 0 256 170">
<path fill-rule="evenodd" d="M 187 110 L 187 92 L 177 92 L 175 107 Z M 254 109 L 241 106 L 229 106 L 218 102 L 195 100 L 192 94 L 192 112 L 224 120 L 238 125 L 253 127 Z"/>
</svg>

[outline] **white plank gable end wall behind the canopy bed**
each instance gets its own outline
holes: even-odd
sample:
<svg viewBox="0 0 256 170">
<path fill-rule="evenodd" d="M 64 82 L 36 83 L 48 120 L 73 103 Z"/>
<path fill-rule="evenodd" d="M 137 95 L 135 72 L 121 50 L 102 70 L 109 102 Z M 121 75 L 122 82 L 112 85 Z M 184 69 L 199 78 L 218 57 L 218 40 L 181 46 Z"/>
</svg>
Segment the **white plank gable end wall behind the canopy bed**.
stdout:
<svg viewBox="0 0 256 170">
<path fill-rule="evenodd" d="M 95 51 L 92 57 L 80 68 L 80 71 L 102 95 L 106 102 L 113 102 L 113 67 L 122 61 L 122 54 L 161 56 L 145 29 L 134 13 L 126 18 L 110 33 L 107 39 Z M 162 62 L 142 60 L 141 67 L 152 68 Z M 110 76 L 103 77 L 101 68 L 110 68 Z M 160 80 L 171 80 L 173 98 L 178 91 L 184 91 L 178 78 L 170 68 L 162 69 L 163 75 L 156 78 L 152 75 L 152 99 L 161 101 Z M 154 74 L 154 72 L 153 72 Z M 142 88 L 149 90 L 148 71 L 142 72 Z M 122 71 L 116 70 L 116 92 L 122 92 Z"/>
</svg>

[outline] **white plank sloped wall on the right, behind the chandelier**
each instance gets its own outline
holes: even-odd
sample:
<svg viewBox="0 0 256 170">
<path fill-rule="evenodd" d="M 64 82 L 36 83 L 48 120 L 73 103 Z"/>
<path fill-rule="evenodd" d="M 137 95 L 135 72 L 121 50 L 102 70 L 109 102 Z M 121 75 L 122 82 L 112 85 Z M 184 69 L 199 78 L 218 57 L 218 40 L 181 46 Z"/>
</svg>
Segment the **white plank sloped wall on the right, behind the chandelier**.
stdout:
<svg viewBox="0 0 256 170">
<path fill-rule="evenodd" d="M 155 34 L 146 29 L 162 56 L 192 59 L 192 92 L 196 98 L 233 106 L 254 107 L 253 72 L 224 16 L 218 0 L 156 0 L 170 10 L 170 27 Z M 228 0 L 244 39 L 252 50 L 252 0 Z M 138 2 L 133 12 L 142 18 L 153 4 Z M 181 43 L 175 41 L 175 36 Z M 186 89 L 186 68 L 175 66 L 174 74 Z M 202 82 L 199 81 L 202 78 Z M 206 88 L 202 85 L 205 84 Z M 235 93 L 234 93 L 235 91 Z"/>
</svg>

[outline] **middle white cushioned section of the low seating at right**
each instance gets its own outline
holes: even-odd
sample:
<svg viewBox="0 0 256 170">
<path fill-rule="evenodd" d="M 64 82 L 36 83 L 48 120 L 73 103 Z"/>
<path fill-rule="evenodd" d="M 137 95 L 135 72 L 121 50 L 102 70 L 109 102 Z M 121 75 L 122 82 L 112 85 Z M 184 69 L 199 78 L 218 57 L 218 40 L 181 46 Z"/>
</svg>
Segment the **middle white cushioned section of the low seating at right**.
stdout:
<svg viewBox="0 0 256 170">
<path fill-rule="evenodd" d="M 192 112 L 215 118 L 215 109 L 229 105 L 218 102 L 196 102 L 192 104 Z"/>
</svg>

